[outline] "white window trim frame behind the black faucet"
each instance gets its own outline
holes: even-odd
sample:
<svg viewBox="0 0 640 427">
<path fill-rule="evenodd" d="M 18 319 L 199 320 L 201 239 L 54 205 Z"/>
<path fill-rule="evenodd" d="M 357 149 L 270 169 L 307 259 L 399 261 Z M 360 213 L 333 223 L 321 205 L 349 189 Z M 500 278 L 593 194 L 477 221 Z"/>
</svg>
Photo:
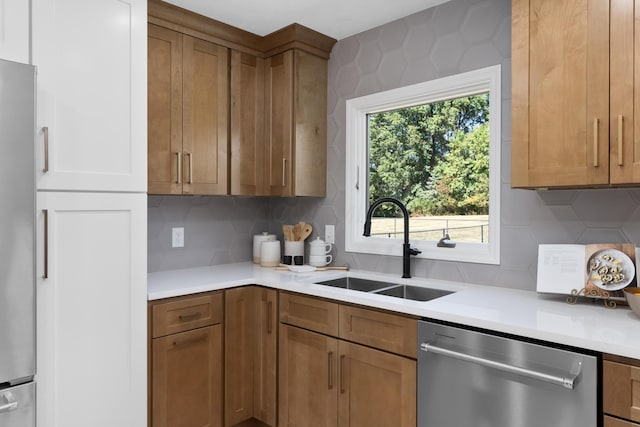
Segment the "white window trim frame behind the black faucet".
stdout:
<svg viewBox="0 0 640 427">
<path fill-rule="evenodd" d="M 419 258 L 500 264 L 500 144 L 502 107 L 500 65 L 469 71 L 346 102 L 345 250 L 402 256 L 402 239 L 364 237 L 367 200 L 367 114 L 426 104 L 489 91 L 489 242 L 452 242 L 438 248 L 436 241 L 413 240 Z"/>
</svg>

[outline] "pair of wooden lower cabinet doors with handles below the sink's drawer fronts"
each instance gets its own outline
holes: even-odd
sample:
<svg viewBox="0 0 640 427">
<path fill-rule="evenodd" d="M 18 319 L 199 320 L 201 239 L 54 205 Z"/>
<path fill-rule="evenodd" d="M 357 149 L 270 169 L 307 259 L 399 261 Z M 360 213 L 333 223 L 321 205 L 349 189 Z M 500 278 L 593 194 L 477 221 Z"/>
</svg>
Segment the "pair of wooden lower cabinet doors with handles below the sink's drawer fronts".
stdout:
<svg viewBox="0 0 640 427">
<path fill-rule="evenodd" d="M 279 427 L 415 427 L 415 360 L 280 328 Z"/>
</svg>

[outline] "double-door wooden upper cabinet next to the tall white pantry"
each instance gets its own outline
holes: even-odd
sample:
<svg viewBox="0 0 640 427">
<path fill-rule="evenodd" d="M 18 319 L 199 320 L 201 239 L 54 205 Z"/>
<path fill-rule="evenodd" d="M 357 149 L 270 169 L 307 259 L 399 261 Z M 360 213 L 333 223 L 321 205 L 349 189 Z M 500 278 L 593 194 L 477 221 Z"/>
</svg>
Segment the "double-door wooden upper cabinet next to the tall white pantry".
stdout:
<svg viewBox="0 0 640 427">
<path fill-rule="evenodd" d="M 149 24 L 150 194 L 227 194 L 228 50 Z"/>
</svg>

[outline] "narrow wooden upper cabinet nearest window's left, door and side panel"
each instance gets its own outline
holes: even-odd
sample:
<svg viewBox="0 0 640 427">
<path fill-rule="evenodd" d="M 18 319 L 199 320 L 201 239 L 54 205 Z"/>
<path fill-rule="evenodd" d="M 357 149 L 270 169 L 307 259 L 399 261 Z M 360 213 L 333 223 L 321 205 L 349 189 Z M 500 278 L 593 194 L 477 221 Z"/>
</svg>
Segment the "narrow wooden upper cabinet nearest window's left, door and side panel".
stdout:
<svg viewBox="0 0 640 427">
<path fill-rule="evenodd" d="M 267 58 L 265 67 L 268 192 L 324 197 L 327 60 L 292 49 Z"/>
</svg>

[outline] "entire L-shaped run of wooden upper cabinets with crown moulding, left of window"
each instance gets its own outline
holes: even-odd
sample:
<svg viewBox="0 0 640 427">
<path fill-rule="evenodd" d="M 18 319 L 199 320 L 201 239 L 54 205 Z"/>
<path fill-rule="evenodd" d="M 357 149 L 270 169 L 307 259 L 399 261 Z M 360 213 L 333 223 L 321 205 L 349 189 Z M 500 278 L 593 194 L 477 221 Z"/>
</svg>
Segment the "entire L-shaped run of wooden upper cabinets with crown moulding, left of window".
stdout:
<svg viewBox="0 0 640 427">
<path fill-rule="evenodd" d="M 336 40 L 299 24 L 261 37 L 161 0 L 148 13 L 149 194 L 324 197 Z"/>
</svg>

